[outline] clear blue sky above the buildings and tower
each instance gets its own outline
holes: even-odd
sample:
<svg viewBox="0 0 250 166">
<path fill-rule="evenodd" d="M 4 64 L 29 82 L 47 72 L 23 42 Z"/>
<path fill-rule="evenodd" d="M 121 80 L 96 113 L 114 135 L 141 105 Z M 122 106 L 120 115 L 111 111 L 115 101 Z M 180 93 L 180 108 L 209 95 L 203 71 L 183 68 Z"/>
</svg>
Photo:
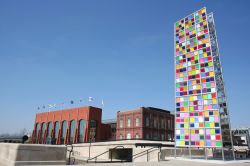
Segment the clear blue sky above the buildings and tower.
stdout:
<svg viewBox="0 0 250 166">
<path fill-rule="evenodd" d="M 0 133 L 31 130 L 38 106 L 70 100 L 103 99 L 104 119 L 139 106 L 174 110 L 173 24 L 204 6 L 215 17 L 232 125 L 250 126 L 249 5 L 2 1 Z"/>
</svg>

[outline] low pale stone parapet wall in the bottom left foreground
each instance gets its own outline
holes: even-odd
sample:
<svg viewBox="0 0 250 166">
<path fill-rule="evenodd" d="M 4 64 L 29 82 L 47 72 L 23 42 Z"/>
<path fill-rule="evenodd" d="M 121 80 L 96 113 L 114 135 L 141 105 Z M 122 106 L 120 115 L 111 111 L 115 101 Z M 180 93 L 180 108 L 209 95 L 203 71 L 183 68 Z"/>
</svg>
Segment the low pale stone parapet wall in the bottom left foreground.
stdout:
<svg viewBox="0 0 250 166">
<path fill-rule="evenodd" d="M 0 143 L 0 166 L 65 165 L 65 145 Z"/>
</svg>

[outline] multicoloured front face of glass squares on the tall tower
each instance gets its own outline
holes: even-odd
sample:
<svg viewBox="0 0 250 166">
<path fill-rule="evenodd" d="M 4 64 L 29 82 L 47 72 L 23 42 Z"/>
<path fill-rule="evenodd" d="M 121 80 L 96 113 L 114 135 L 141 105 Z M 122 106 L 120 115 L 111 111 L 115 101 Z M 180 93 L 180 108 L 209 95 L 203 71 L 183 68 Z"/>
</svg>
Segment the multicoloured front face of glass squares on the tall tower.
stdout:
<svg viewBox="0 0 250 166">
<path fill-rule="evenodd" d="M 208 28 L 205 8 L 175 24 L 176 146 L 221 146 L 218 87 Z M 171 125 L 168 121 L 168 128 Z"/>
</svg>

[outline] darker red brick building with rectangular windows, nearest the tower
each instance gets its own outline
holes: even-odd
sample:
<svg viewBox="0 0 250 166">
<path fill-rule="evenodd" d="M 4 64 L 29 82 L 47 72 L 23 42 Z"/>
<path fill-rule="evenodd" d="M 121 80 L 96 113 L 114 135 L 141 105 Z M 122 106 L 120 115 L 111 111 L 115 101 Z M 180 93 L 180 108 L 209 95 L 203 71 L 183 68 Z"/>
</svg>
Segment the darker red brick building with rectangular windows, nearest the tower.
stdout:
<svg viewBox="0 0 250 166">
<path fill-rule="evenodd" d="M 117 113 L 116 139 L 173 141 L 174 115 L 169 111 L 140 107 Z"/>
</svg>

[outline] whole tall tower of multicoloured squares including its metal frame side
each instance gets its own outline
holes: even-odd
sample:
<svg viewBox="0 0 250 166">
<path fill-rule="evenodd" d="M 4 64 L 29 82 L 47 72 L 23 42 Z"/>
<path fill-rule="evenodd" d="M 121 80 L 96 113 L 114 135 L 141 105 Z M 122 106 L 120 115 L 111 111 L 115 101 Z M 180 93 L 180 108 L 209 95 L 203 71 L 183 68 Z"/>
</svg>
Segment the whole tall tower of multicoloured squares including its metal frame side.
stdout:
<svg viewBox="0 0 250 166">
<path fill-rule="evenodd" d="M 174 24 L 175 146 L 233 155 L 213 13 L 202 8 Z"/>
</svg>

